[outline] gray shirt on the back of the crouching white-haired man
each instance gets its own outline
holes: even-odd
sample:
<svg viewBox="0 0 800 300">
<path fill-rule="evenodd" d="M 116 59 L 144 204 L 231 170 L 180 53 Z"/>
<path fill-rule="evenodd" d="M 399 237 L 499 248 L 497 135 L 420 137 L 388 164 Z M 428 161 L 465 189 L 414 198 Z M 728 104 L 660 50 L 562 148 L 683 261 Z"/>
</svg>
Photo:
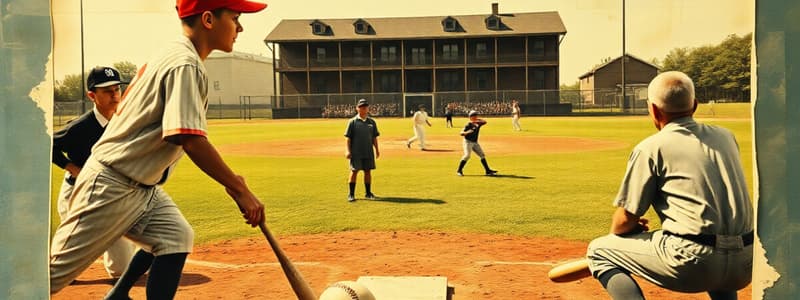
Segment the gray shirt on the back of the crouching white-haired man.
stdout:
<svg viewBox="0 0 800 300">
<path fill-rule="evenodd" d="M 728 130 L 673 120 L 634 148 L 614 205 L 642 216 L 652 206 L 677 234 L 753 230 L 739 147 Z"/>
</svg>

